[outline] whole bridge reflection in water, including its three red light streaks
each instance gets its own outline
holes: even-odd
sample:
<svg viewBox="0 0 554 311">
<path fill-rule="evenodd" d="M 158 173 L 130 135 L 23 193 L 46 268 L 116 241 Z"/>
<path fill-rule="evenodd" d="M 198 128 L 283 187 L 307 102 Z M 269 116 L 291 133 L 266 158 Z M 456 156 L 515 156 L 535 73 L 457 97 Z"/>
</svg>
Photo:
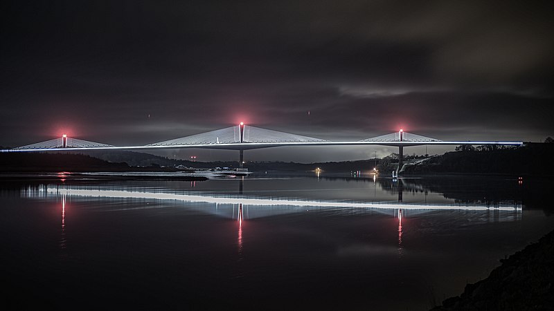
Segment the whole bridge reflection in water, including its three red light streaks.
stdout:
<svg viewBox="0 0 554 311">
<path fill-rule="evenodd" d="M 391 192 L 397 192 L 398 202 L 345 202 L 332 200 L 294 200 L 280 197 L 256 197 L 244 195 L 244 178 L 239 180 L 238 194 L 207 194 L 183 191 L 169 191 L 169 189 L 131 188 L 105 185 L 40 185 L 21 189 L 21 196 L 25 198 L 46 198 L 60 200 L 61 236 L 60 248 L 66 248 L 66 202 L 97 201 L 108 198 L 133 199 L 139 201 L 168 201 L 188 203 L 186 208 L 202 213 L 231 218 L 237 222 L 238 254 L 242 258 L 245 220 L 279 216 L 284 214 L 305 213 L 308 210 L 328 210 L 338 214 L 352 214 L 352 211 L 385 214 L 396 220 L 397 252 L 402 257 L 404 252 L 403 238 L 405 234 L 406 217 L 422 216 L 426 213 L 440 211 L 463 211 L 472 218 L 472 223 L 489 223 L 491 221 L 521 220 L 521 204 L 497 203 L 493 206 L 486 204 L 407 204 L 402 202 L 403 191 L 406 189 L 404 180 L 383 180 L 379 186 Z M 377 182 L 373 182 L 374 191 Z M 407 189 L 414 191 L 418 185 L 407 182 Z M 420 191 L 423 191 L 420 189 Z M 427 198 L 427 190 L 425 190 Z M 136 207 L 143 208 L 143 207 Z M 404 224 L 403 224 L 404 222 Z M 404 225 L 404 226 L 403 226 Z"/>
</svg>

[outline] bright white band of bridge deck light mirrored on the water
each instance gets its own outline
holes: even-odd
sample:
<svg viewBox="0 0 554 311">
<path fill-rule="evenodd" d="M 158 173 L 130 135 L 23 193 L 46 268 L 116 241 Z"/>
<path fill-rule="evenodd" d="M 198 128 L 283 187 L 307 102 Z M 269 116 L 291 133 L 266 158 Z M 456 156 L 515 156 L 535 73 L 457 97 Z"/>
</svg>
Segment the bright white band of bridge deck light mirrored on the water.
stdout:
<svg viewBox="0 0 554 311">
<path fill-rule="evenodd" d="M 240 181 L 242 184 L 243 180 Z M 399 196 L 402 196 L 402 187 L 397 188 Z M 396 214 L 396 211 L 402 209 L 410 211 L 410 214 L 425 214 L 429 211 L 436 210 L 458 210 L 458 211 L 487 211 L 488 215 L 493 215 L 497 218 L 506 218 L 508 215 L 512 215 L 515 212 L 515 218 L 519 218 L 521 214 L 521 205 L 512 204 L 494 204 L 494 205 L 469 205 L 469 204 L 456 204 L 456 203 L 434 203 L 425 204 L 423 202 L 406 203 L 406 202 L 367 202 L 367 201 L 346 201 L 346 200 L 308 200 L 308 199 L 293 199 L 282 197 L 268 197 L 268 196 L 253 196 L 253 195 L 232 195 L 232 194 L 213 194 L 213 193 L 188 193 L 182 191 L 170 191 L 169 189 L 151 189 L 151 188 L 132 188 L 118 186 L 102 186 L 102 185 L 41 185 L 39 187 L 29 187 L 21 190 L 21 196 L 28 198 L 37 197 L 66 197 L 71 196 L 80 198 L 81 200 L 94 200 L 98 198 L 136 198 L 141 200 L 172 200 L 177 202 L 197 202 L 213 204 L 214 209 L 206 209 L 202 207 L 202 210 L 213 211 L 214 214 L 225 216 L 229 218 L 235 218 L 234 211 L 231 211 L 231 215 L 227 214 L 230 210 L 229 207 L 233 205 L 240 205 L 241 211 L 243 205 L 255 207 L 253 209 L 253 215 L 249 215 L 249 218 L 258 218 L 265 216 L 273 216 L 275 214 L 289 214 L 295 212 L 303 212 L 307 207 L 310 209 L 368 209 L 377 211 L 381 214 Z M 196 205 L 190 205 L 195 207 Z M 270 208 L 268 208 L 270 207 Z M 240 214 L 241 222 L 246 219 Z M 392 215 L 391 215 L 392 216 Z M 405 215 L 402 215 L 405 216 Z"/>
</svg>

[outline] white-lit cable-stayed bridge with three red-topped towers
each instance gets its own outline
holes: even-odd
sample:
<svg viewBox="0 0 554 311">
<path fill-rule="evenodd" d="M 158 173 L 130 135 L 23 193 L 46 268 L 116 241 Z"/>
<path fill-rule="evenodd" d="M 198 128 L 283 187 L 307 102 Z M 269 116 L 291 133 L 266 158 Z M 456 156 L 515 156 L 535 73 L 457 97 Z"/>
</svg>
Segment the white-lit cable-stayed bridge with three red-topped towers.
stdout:
<svg viewBox="0 0 554 311">
<path fill-rule="evenodd" d="M 459 140 L 438 140 L 422 135 L 397 131 L 386 135 L 380 135 L 364 140 L 324 140 L 304 135 L 285 133 L 270 129 L 262 129 L 256 126 L 249 126 L 242 122 L 236 126 L 225 129 L 208 131 L 182 138 L 153 142 L 141 146 L 113 146 L 100 142 L 89 142 L 77 138 L 69 138 L 65 134 L 61 138 L 27 144 L 14 149 L 1 150 L 1 152 L 37 152 L 37 151 L 86 151 L 86 150 L 148 150 L 148 149 L 230 149 L 240 151 L 240 164 L 244 162 L 244 150 L 260 149 L 269 147 L 284 146 L 366 146 L 382 145 L 398 147 L 400 167 L 402 167 L 402 155 L 404 147 L 421 145 L 511 145 L 520 146 L 524 142 L 516 141 L 459 141 Z"/>
</svg>

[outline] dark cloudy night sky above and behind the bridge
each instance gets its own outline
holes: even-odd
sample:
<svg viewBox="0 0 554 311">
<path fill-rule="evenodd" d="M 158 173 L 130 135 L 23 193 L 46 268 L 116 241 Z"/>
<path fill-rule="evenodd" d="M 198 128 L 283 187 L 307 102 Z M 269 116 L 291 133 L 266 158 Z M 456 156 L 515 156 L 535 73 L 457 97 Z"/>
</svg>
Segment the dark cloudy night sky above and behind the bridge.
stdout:
<svg viewBox="0 0 554 311">
<path fill-rule="evenodd" d="M 0 145 L 244 121 L 332 140 L 554 136 L 549 1 L 2 1 Z M 353 160 L 385 147 L 247 151 Z M 438 147 L 429 153 L 438 153 Z M 425 153 L 408 148 L 405 153 Z M 168 151 L 234 160 L 229 151 Z"/>
</svg>

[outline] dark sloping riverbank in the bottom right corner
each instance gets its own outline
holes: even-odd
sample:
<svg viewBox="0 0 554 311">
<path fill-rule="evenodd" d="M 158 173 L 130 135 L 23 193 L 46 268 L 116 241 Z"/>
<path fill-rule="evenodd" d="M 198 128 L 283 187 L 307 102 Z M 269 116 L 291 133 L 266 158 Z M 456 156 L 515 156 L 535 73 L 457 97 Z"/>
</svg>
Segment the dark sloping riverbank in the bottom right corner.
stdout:
<svg viewBox="0 0 554 311">
<path fill-rule="evenodd" d="M 501 260 L 487 279 L 432 310 L 552 310 L 554 231 Z"/>
</svg>

